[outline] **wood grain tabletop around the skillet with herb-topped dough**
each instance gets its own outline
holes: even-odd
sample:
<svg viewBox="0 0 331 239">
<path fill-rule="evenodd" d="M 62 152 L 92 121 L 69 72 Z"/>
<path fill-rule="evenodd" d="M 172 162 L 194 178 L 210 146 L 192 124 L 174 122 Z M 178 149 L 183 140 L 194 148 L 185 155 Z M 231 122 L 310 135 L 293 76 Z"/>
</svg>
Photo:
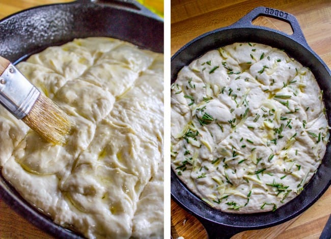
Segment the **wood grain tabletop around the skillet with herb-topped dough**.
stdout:
<svg viewBox="0 0 331 239">
<path fill-rule="evenodd" d="M 331 67 L 331 1 L 329 0 L 171 0 L 171 55 L 195 37 L 230 25 L 259 6 L 277 8 L 295 15 L 309 45 L 328 67 Z M 292 33 L 289 24 L 273 18 L 259 17 L 254 24 Z M 278 226 L 244 231 L 232 238 L 319 238 L 331 214 L 330 205 L 331 188 L 313 206 L 296 218 Z M 173 200 L 171 224 L 174 237 L 207 238 L 202 224 Z"/>
</svg>

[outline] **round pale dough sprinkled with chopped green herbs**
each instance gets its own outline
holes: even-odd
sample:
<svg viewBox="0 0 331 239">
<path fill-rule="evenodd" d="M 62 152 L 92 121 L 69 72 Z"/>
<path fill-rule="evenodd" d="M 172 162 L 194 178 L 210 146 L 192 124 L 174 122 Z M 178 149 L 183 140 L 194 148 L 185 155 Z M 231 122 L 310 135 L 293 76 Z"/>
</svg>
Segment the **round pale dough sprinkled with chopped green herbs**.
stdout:
<svg viewBox="0 0 331 239">
<path fill-rule="evenodd" d="M 300 194 L 324 156 L 322 96 L 312 72 L 280 49 L 211 50 L 172 85 L 172 169 L 217 209 L 276 210 Z"/>
</svg>

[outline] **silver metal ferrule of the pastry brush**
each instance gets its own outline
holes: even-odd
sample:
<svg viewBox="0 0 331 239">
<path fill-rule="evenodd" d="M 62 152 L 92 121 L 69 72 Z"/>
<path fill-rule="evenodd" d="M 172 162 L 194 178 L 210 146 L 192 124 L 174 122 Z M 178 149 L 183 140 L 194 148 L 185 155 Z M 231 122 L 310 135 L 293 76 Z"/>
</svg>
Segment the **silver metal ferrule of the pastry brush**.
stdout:
<svg viewBox="0 0 331 239">
<path fill-rule="evenodd" d="M 12 64 L 0 76 L 0 102 L 17 119 L 29 114 L 39 95 L 40 91 Z"/>
</svg>

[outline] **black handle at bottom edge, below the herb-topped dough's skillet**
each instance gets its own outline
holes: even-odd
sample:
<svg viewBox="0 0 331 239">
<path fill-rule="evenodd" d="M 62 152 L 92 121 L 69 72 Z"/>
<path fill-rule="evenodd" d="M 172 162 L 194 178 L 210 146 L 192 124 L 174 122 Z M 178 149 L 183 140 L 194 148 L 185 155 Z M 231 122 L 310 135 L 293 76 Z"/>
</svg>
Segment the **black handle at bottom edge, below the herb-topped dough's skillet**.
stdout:
<svg viewBox="0 0 331 239">
<path fill-rule="evenodd" d="M 216 224 L 213 223 L 212 221 L 200 217 L 197 217 L 197 219 L 205 227 L 208 234 L 208 239 L 229 239 L 235 234 L 246 230 L 239 227 L 231 227 L 231 226 Z"/>
</svg>

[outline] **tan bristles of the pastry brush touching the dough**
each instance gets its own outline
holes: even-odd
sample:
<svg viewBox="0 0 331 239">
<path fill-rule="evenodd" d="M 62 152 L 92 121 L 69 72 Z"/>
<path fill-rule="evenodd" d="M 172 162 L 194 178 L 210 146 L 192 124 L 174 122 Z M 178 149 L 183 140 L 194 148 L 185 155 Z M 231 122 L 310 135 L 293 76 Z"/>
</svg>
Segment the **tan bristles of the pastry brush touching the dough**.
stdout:
<svg viewBox="0 0 331 239">
<path fill-rule="evenodd" d="M 48 142 L 64 145 L 65 136 L 70 133 L 68 116 L 53 101 L 40 94 L 29 114 L 23 119 Z"/>
</svg>

